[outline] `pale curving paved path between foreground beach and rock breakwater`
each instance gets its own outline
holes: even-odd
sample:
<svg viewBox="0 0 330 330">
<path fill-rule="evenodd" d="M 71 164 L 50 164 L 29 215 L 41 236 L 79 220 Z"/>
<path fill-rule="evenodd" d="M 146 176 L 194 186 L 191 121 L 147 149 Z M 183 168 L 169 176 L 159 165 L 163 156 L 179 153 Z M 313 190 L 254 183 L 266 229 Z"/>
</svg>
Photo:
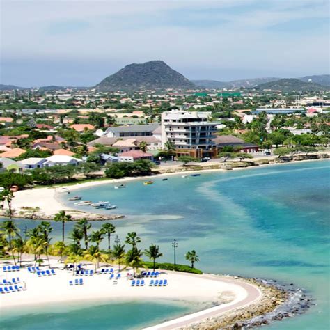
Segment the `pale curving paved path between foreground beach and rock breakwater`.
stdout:
<svg viewBox="0 0 330 330">
<path fill-rule="evenodd" d="M 187 274 L 187 275 L 198 276 L 195 274 Z M 199 275 L 199 276 L 201 276 L 201 275 Z M 237 301 L 234 304 L 224 304 L 224 305 L 219 305 L 219 306 L 215 306 L 212 308 L 208 308 L 205 311 L 201 311 L 201 312 L 193 313 L 193 314 L 186 315 L 183 317 L 179 317 L 178 319 L 164 322 L 164 323 L 158 324 L 154 327 L 148 327 L 144 330 L 165 330 L 165 329 L 175 329 L 175 328 L 179 328 L 179 327 L 184 327 L 191 323 L 205 320 L 209 317 L 214 317 L 216 315 L 220 315 L 220 314 L 228 312 L 228 311 L 233 311 L 236 308 L 248 306 L 249 304 L 252 304 L 254 301 L 260 299 L 260 297 L 262 296 L 262 292 L 258 289 L 258 287 L 256 285 L 252 285 L 250 283 L 235 280 L 233 278 L 219 277 L 219 276 L 214 276 L 214 275 L 203 275 L 203 277 L 205 277 L 207 279 L 212 279 L 214 281 L 221 281 L 224 283 L 239 285 L 241 288 L 244 288 L 244 290 L 246 290 L 247 295 L 244 299 Z"/>
</svg>

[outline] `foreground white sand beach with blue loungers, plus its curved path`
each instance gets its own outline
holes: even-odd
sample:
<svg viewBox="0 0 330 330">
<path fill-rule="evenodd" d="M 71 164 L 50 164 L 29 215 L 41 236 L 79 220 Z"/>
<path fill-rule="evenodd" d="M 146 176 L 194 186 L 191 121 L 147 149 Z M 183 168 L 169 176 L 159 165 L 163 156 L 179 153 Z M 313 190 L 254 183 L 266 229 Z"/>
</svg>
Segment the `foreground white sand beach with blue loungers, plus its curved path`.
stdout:
<svg viewBox="0 0 330 330">
<path fill-rule="evenodd" d="M 28 265 L 33 265 L 33 258 L 24 260 L 19 272 L 3 272 L 3 265 L 8 262 L 0 263 L 0 281 L 5 278 L 10 281 L 13 277 L 19 277 L 21 284 L 24 282 L 26 290 L 20 292 L 6 293 L 0 295 L 0 306 L 3 313 L 6 308 L 22 306 L 45 305 L 53 303 L 65 303 L 68 301 L 132 301 L 146 299 L 171 299 L 184 301 L 198 301 L 201 308 L 205 304 L 217 304 L 198 313 L 186 315 L 178 320 L 166 322 L 159 327 L 151 329 L 173 329 L 180 324 L 189 324 L 198 319 L 204 319 L 211 315 L 217 315 L 234 308 L 249 305 L 262 297 L 262 292 L 256 285 L 246 283 L 239 279 L 220 277 L 210 274 L 196 275 L 184 274 L 179 272 L 160 271 L 158 279 L 167 279 L 168 285 L 162 287 L 150 287 L 150 278 L 145 278 L 146 285 L 143 287 L 132 287 L 131 281 L 127 277 L 129 270 L 123 271 L 122 278 L 115 284 L 109 279 L 109 275 L 96 274 L 93 276 L 77 277 L 73 276 L 72 271 L 63 269 L 64 264 L 51 259 L 52 269 L 56 275 L 38 277 L 36 274 L 27 270 Z M 12 263 L 12 262 L 11 262 Z M 42 269 L 49 269 L 42 266 Z M 95 269 L 93 264 L 84 266 L 85 269 Z M 117 274 L 117 266 L 113 266 Z M 82 278 L 83 285 L 69 285 L 69 281 L 75 278 Z M 154 279 L 155 280 L 155 279 Z M 219 304 L 219 302 L 222 303 Z"/>
</svg>

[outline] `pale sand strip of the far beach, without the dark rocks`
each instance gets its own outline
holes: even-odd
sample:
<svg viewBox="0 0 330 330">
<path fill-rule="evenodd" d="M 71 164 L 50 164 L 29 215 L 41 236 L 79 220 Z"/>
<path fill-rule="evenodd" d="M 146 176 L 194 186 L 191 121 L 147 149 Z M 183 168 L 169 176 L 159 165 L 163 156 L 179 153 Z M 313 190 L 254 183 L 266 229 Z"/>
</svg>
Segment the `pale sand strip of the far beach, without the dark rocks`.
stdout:
<svg viewBox="0 0 330 330">
<path fill-rule="evenodd" d="M 313 159 L 313 160 L 301 160 L 299 162 L 316 162 L 316 161 L 323 161 L 329 159 Z M 276 166 L 282 164 L 293 164 L 290 163 L 272 163 L 272 164 L 264 164 L 259 166 Z M 259 166 L 249 166 L 244 168 L 233 168 L 233 171 L 243 171 L 248 170 L 251 168 L 258 168 Z M 77 218 L 81 218 L 83 216 L 90 216 L 93 212 L 81 212 L 81 210 L 74 209 L 72 207 L 68 207 L 67 205 L 63 204 L 63 201 L 60 200 L 60 195 L 63 195 L 63 188 L 68 189 L 68 191 L 77 191 L 79 189 L 89 188 L 89 187 L 97 187 L 102 184 L 116 184 L 116 183 L 125 183 L 130 182 L 133 180 L 146 180 L 150 178 L 164 178 L 173 175 L 184 175 L 184 174 L 193 174 L 193 173 L 212 173 L 212 172 L 226 172 L 228 170 L 222 168 L 216 169 L 201 169 L 196 171 L 177 171 L 173 173 L 160 173 L 152 176 L 141 176 L 135 178 L 121 178 L 121 179 L 109 179 L 109 180 L 102 180 L 102 181 L 95 181 L 95 182 L 84 182 L 84 183 L 77 183 L 74 185 L 68 186 L 61 186 L 61 187 L 45 187 L 45 188 L 38 188 L 38 189 L 29 189 L 29 190 L 22 190 L 15 192 L 15 198 L 13 198 L 13 209 L 16 210 L 17 213 L 19 211 L 24 210 L 24 207 L 38 207 L 38 214 L 45 214 L 46 217 L 52 217 L 54 214 L 61 210 L 72 212 L 73 217 L 77 216 Z M 60 192 L 62 191 L 62 192 Z M 23 207 L 23 209 L 22 209 Z M 77 212 L 77 214 L 75 213 Z M 37 215 L 38 215 L 37 214 Z M 125 215 L 125 214 L 124 214 Z M 101 216 L 101 215 L 100 215 Z M 104 216 L 104 215 L 103 215 Z M 120 214 L 120 216 L 123 216 Z M 24 216 L 22 216 L 24 218 Z M 38 217 L 34 217 L 33 219 L 37 219 Z M 116 215 L 113 217 L 116 219 Z"/>
</svg>

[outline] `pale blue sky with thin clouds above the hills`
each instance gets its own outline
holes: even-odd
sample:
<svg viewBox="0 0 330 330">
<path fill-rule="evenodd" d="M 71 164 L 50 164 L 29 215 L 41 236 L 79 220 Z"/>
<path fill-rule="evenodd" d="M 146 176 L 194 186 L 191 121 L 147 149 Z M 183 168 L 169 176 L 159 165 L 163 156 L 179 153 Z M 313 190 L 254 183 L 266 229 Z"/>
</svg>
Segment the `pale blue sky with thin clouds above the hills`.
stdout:
<svg viewBox="0 0 330 330">
<path fill-rule="evenodd" d="M 329 74 L 327 0 L 0 0 L 0 84 L 94 86 L 162 60 L 188 79 Z"/>
</svg>

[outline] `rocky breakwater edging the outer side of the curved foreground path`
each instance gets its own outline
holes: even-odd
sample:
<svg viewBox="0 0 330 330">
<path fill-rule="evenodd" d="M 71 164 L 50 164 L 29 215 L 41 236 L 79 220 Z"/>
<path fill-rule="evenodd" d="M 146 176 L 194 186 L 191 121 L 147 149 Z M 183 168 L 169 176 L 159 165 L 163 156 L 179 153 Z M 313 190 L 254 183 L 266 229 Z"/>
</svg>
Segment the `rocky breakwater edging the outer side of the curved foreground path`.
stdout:
<svg viewBox="0 0 330 330">
<path fill-rule="evenodd" d="M 313 301 L 311 297 L 293 283 L 283 284 L 261 278 L 235 278 L 258 285 L 262 297 L 244 308 L 237 308 L 229 313 L 210 317 L 201 322 L 189 324 L 182 330 L 239 330 L 255 329 L 265 324 L 294 317 L 305 313 Z"/>
</svg>

